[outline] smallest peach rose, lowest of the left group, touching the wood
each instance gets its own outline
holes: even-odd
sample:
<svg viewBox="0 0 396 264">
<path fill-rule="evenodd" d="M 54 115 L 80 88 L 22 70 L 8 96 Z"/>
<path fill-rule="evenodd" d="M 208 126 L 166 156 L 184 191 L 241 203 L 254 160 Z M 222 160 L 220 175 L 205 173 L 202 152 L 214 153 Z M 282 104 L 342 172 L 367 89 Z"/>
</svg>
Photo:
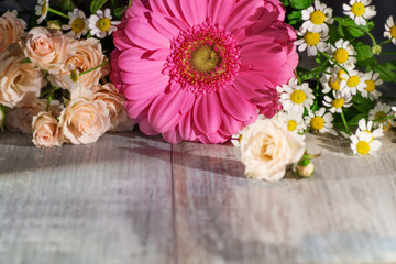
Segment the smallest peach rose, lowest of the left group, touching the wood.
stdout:
<svg viewBox="0 0 396 264">
<path fill-rule="evenodd" d="M 33 118 L 33 144 L 38 147 L 61 146 L 63 141 L 56 118 L 50 112 L 40 112 Z"/>
</svg>

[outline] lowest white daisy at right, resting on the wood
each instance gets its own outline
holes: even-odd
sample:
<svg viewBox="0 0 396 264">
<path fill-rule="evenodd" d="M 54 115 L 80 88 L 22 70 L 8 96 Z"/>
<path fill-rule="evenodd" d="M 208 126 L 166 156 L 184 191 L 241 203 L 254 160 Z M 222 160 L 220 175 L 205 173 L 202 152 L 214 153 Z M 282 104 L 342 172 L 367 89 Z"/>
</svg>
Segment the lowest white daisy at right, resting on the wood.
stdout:
<svg viewBox="0 0 396 264">
<path fill-rule="evenodd" d="M 364 156 L 367 154 L 373 154 L 381 147 L 381 142 L 378 140 L 373 140 L 373 135 L 366 132 L 360 134 L 351 135 L 351 148 L 353 154 Z"/>
</svg>

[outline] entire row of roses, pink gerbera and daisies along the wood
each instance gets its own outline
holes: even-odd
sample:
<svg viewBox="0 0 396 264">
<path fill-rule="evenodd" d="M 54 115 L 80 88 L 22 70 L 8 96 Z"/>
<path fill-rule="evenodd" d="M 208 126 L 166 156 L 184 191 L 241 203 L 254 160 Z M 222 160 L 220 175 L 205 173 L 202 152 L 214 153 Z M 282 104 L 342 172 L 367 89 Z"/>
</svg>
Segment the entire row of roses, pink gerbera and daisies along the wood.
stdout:
<svg viewBox="0 0 396 264">
<path fill-rule="evenodd" d="M 15 11 L 0 18 L 1 128 L 32 133 L 36 146 L 94 143 L 136 123 L 170 143 L 231 140 L 248 177 L 278 180 L 289 164 L 312 175 L 306 132 L 344 136 L 365 155 L 394 125 L 377 86 L 395 81 L 396 65 L 377 56 L 396 26 L 388 18 L 378 44 L 370 0 L 345 2 L 344 16 L 319 0 L 85 8 L 38 0 L 29 23 Z M 318 66 L 298 66 L 297 48 Z"/>
</svg>

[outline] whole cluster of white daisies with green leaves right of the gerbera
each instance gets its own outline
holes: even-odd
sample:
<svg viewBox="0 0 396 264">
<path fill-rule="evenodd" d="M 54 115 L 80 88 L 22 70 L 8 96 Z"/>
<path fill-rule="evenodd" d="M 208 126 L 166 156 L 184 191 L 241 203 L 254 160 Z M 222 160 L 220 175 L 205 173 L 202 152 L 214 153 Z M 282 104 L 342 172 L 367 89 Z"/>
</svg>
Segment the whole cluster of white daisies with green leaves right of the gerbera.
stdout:
<svg viewBox="0 0 396 264">
<path fill-rule="evenodd" d="M 385 44 L 396 44 L 393 16 L 384 25 L 384 40 L 377 43 L 370 33 L 376 15 L 371 0 L 343 3 L 345 16 L 333 16 L 333 10 L 315 0 L 309 7 L 283 1 L 290 11 L 289 23 L 296 28 L 296 45 L 319 64 L 314 69 L 298 68 L 296 78 L 278 87 L 279 102 L 288 117 L 288 129 L 348 136 L 356 155 L 380 148 L 377 140 L 395 125 L 395 110 L 384 102 L 377 89 L 383 81 L 395 81 L 395 62 L 378 64 Z M 371 37 L 372 46 L 360 41 Z M 355 129 L 355 130 L 354 130 Z"/>
</svg>

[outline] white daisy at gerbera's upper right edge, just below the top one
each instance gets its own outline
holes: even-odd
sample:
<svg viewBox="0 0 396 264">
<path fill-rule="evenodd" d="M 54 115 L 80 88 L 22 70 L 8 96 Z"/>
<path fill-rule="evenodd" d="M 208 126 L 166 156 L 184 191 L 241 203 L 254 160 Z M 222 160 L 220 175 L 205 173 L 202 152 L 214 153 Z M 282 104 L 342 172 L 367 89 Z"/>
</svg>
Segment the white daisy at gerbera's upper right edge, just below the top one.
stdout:
<svg viewBox="0 0 396 264">
<path fill-rule="evenodd" d="M 319 52 L 324 52 L 327 48 L 326 41 L 329 38 L 326 32 L 310 32 L 307 28 L 301 26 L 297 32 L 297 35 L 301 36 L 295 44 L 298 46 L 299 52 L 308 51 L 308 56 L 316 56 Z"/>
</svg>

